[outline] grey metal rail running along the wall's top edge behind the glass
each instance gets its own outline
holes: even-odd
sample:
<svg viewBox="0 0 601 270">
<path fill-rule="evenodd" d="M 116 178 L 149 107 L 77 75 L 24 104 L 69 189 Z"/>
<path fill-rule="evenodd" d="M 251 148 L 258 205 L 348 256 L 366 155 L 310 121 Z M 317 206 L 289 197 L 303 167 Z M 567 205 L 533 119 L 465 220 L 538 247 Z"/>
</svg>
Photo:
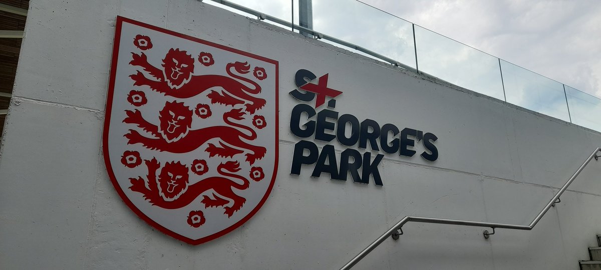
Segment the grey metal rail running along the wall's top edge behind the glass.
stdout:
<svg viewBox="0 0 601 270">
<path fill-rule="evenodd" d="M 203 0 L 200 0 L 200 1 L 202 2 Z M 401 67 L 401 68 L 404 68 L 406 70 L 417 72 L 417 70 L 415 68 L 412 68 L 412 67 L 409 67 L 408 65 L 402 64 L 402 63 L 400 63 L 400 62 L 398 62 L 398 61 L 396 61 L 396 60 L 394 60 L 392 58 L 388 58 L 386 56 L 380 55 L 379 53 L 376 53 L 376 52 L 373 52 L 371 50 L 365 49 L 364 47 L 357 46 L 357 45 L 352 44 L 352 43 L 348 43 L 348 42 L 346 42 L 344 40 L 339 40 L 338 38 L 322 34 L 320 32 L 314 31 L 313 29 L 305 28 L 305 27 L 300 26 L 300 25 L 295 25 L 295 24 L 293 24 L 291 22 L 287 22 L 285 20 L 278 19 L 276 17 L 269 16 L 267 14 L 261 13 L 259 11 L 252 10 L 251 8 L 247 8 L 247 7 L 244 7 L 242 5 L 234 4 L 233 2 L 230 2 L 230 1 L 225 1 L 225 0 L 211 0 L 211 1 L 217 2 L 217 3 L 222 4 L 222 5 L 226 5 L 226 6 L 231 7 L 231 8 L 236 8 L 237 10 L 240 10 L 240 11 L 242 11 L 244 13 L 252 14 L 254 16 L 257 16 L 258 19 L 260 19 L 260 20 L 270 20 L 272 22 L 279 23 L 280 25 L 284 25 L 284 26 L 287 26 L 287 27 L 294 27 L 294 29 L 302 30 L 303 32 L 307 32 L 307 33 L 313 35 L 314 37 L 323 38 L 325 40 L 329 40 L 329 41 L 332 41 L 334 43 L 338 43 L 338 44 L 340 44 L 342 46 L 346 46 L 346 47 L 349 47 L 351 49 L 358 50 L 359 52 L 367 53 L 368 55 L 371 55 L 371 56 L 374 56 L 375 58 L 378 58 L 380 60 L 389 62 L 390 64 L 395 65 L 397 67 Z"/>
</svg>

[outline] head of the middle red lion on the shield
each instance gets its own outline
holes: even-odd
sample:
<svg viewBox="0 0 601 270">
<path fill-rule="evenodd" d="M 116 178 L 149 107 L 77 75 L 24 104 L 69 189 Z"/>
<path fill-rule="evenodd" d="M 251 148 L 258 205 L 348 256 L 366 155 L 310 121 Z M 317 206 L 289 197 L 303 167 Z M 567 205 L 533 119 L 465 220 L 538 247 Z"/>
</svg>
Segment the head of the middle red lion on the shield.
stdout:
<svg viewBox="0 0 601 270">
<path fill-rule="evenodd" d="M 183 102 L 166 102 L 159 112 L 160 130 L 168 142 L 175 142 L 188 134 L 192 125 L 192 110 Z"/>
</svg>

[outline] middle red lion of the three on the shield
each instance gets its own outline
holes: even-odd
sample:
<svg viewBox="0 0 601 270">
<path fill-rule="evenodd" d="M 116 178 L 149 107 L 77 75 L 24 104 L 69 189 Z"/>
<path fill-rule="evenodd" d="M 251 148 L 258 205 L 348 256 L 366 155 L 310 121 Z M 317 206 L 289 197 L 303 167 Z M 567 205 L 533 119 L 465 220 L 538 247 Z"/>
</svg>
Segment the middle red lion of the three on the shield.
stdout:
<svg viewBox="0 0 601 270">
<path fill-rule="evenodd" d="M 157 149 L 172 153 L 187 153 L 199 148 L 207 140 L 217 138 L 229 145 L 251 151 L 251 153 L 246 154 L 246 161 L 251 165 L 256 160 L 263 158 L 267 151 L 264 147 L 251 145 L 242 141 L 242 139 L 257 139 L 257 133 L 252 128 L 230 121 L 230 118 L 234 120 L 244 119 L 242 109 L 232 109 L 230 112 L 224 113 L 223 119 L 225 123 L 232 127 L 224 125 L 200 128 L 198 130 L 190 130 L 192 110 L 188 106 L 185 106 L 184 103 L 177 101 L 165 103 L 165 107 L 159 112 L 159 126 L 146 121 L 142 117 L 142 113 L 137 109 L 133 111 L 125 110 L 125 112 L 127 113 L 127 117 L 123 122 L 135 124 L 139 128 L 142 128 L 142 130 L 153 135 L 153 137 L 149 138 L 142 136 L 138 131 L 129 130 L 129 133 L 125 134 L 124 137 L 128 139 L 127 143 L 130 145 L 141 143 L 148 149 Z M 242 128 L 250 134 L 235 127 Z M 233 155 L 243 152 L 239 149 L 230 148 L 221 142 L 219 144 L 222 146 L 221 148 L 209 143 L 206 151 L 209 152 L 210 157 L 214 155 L 233 157 Z"/>
</svg>

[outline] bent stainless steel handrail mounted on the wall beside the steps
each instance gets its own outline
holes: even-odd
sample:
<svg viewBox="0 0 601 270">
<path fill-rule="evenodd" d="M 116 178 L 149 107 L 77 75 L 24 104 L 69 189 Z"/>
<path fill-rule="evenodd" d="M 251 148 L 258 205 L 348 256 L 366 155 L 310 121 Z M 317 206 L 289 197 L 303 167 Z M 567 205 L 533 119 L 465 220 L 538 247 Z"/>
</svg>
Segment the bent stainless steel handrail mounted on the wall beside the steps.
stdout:
<svg viewBox="0 0 601 270">
<path fill-rule="evenodd" d="M 359 262 L 359 260 L 363 259 L 363 257 L 365 257 L 368 253 L 370 253 L 372 250 L 374 250 L 374 248 L 376 248 L 378 245 L 382 244 L 382 242 L 384 242 L 384 240 L 386 238 L 388 238 L 388 236 L 392 236 L 393 238 L 397 238 L 398 239 L 398 235 L 402 235 L 403 234 L 403 230 L 401 230 L 401 228 L 403 227 L 403 225 L 409 221 L 412 222 L 418 222 L 418 223 L 439 223 L 439 224 L 453 224 L 453 225 L 463 225 L 463 226 L 475 226 L 475 227 L 490 227 L 493 229 L 492 233 L 489 233 L 488 231 L 484 231 L 484 237 L 488 238 L 488 235 L 492 235 L 495 233 L 495 228 L 502 228 L 502 229 L 515 229 L 515 230 L 532 230 L 532 228 L 538 223 L 538 221 L 543 217 L 543 215 L 545 215 L 545 213 L 549 210 L 549 208 L 551 208 L 555 202 L 557 202 L 557 199 L 559 199 L 559 197 L 561 196 L 561 194 L 564 193 L 564 191 L 566 191 L 567 187 L 572 184 L 572 182 L 574 181 L 574 179 L 576 179 L 576 177 L 582 172 L 582 170 L 584 169 L 584 167 L 587 166 L 587 164 L 594 158 L 595 160 L 599 160 L 599 157 L 601 157 L 601 155 L 597 155 L 597 152 L 601 151 L 601 148 L 597 148 L 595 149 L 595 151 L 593 152 L 593 154 L 591 154 L 586 161 L 584 161 L 584 163 L 582 163 L 582 165 L 578 168 L 578 170 L 576 170 L 576 172 L 572 175 L 572 177 L 570 177 L 570 179 L 568 179 L 568 181 L 566 182 L 566 184 L 563 185 L 563 187 L 561 187 L 560 191 L 555 194 L 555 196 L 553 196 L 553 198 L 551 200 L 549 200 L 549 202 L 547 203 L 547 205 L 545 205 L 545 208 L 543 208 L 538 215 L 534 218 L 534 220 L 532 220 L 532 222 L 529 225 L 514 225 L 514 224 L 503 224 L 503 223 L 490 223 L 490 222 L 480 222 L 480 221 L 468 221 L 468 220 L 448 220 L 448 219 L 444 219 L 444 218 L 428 218 L 428 217 L 410 217 L 410 216 L 406 216 L 404 218 L 401 218 L 400 221 L 398 221 L 396 224 L 394 224 L 394 226 L 392 226 L 390 229 L 386 230 L 385 233 L 383 233 L 382 235 L 380 235 L 380 237 L 378 237 L 376 239 L 376 241 L 372 242 L 370 245 L 368 245 L 364 250 L 362 250 L 359 254 L 357 254 L 355 257 L 353 257 L 353 259 L 351 259 L 349 262 L 346 263 L 346 265 L 342 266 L 342 268 L 340 268 L 340 270 L 347 270 L 353 267 L 353 265 L 355 265 L 356 263 Z M 401 230 L 400 233 L 397 232 L 397 230 Z"/>
</svg>

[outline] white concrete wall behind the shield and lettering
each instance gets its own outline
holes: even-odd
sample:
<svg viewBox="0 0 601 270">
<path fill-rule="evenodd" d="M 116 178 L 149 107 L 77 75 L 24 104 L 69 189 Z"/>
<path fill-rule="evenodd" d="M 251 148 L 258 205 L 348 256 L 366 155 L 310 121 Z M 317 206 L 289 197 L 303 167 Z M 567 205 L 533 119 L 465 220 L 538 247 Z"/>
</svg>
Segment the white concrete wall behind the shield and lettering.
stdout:
<svg viewBox="0 0 601 270">
<path fill-rule="evenodd" d="M 100 138 L 118 15 L 279 61 L 278 178 L 221 238 L 163 235 L 108 179 Z M 405 215 L 528 224 L 601 145 L 594 131 L 198 1 L 31 1 L 25 32 L 0 151 L 2 269 L 337 269 Z M 439 159 L 386 155 L 383 187 L 290 175 L 300 68 L 329 73 L 344 91 L 338 112 L 436 134 Z M 356 268 L 578 269 L 601 233 L 600 173 L 593 161 L 530 232 L 484 240 L 482 228 L 410 223 Z"/>
</svg>

